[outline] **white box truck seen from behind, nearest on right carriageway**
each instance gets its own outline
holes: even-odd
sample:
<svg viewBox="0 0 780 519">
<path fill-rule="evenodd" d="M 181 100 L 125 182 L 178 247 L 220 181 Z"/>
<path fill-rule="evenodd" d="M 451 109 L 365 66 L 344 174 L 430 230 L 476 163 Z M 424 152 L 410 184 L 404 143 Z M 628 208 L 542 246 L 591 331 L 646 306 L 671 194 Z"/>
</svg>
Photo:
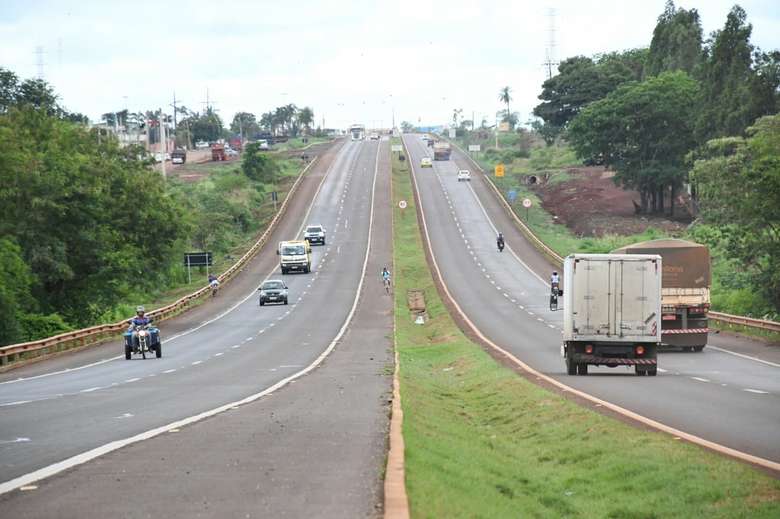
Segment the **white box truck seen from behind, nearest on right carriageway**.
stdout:
<svg viewBox="0 0 780 519">
<path fill-rule="evenodd" d="M 563 346 L 569 375 L 588 366 L 658 372 L 661 256 L 572 254 L 563 263 Z"/>
</svg>

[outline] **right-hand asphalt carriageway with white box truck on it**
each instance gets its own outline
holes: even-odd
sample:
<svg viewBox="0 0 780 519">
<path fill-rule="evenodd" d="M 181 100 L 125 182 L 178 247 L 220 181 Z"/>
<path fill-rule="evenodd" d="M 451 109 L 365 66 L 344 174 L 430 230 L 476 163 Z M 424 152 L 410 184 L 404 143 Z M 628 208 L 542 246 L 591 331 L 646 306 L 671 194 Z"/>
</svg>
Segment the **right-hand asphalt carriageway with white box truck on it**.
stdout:
<svg viewBox="0 0 780 519">
<path fill-rule="evenodd" d="M 705 349 L 662 353 L 659 376 L 595 368 L 565 374 L 562 312 L 547 306 L 553 270 L 515 228 L 479 172 L 465 158 L 434 161 L 417 135 L 404 142 L 414 167 L 433 254 L 444 282 L 468 318 L 491 341 L 536 370 L 593 396 L 727 447 L 780 462 L 780 365 Z M 472 171 L 458 182 L 459 168 Z M 497 231 L 508 249 L 496 250 Z M 727 347 L 723 338 L 718 344 Z"/>
</svg>

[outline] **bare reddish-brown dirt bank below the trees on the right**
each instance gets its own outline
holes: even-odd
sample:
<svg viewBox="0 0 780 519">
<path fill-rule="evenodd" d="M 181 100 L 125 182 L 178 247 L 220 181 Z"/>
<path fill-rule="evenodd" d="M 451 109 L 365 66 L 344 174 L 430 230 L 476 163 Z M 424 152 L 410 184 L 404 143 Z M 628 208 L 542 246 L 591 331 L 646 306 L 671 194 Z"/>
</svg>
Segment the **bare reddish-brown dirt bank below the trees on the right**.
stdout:
<svg viewBox="0 0 780 519">
<path fill-rule="evenodd" d="M 636 234 L 648 227 L 676 232 L 690 223 L 684 216 L 669 219 L 635 214 L 634 202 L 639 202 L 639 193 L 616 186 L 614 173 L 601 166 L 566 171 L 570 180 L 539 184 L 534 191 L 542 200 L 542 207 L 578 236 Z"/>
</svg>

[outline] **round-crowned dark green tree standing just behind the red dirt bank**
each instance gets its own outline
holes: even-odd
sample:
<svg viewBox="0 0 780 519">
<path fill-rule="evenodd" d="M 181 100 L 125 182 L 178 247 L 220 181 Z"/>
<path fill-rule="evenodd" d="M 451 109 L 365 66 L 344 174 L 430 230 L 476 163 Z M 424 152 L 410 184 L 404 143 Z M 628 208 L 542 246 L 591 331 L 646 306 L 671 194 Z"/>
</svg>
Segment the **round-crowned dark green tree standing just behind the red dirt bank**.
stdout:
<svg viewBox="0 0 780 519">
<path fill-rule="evenodd" d="M 615 181 L 640 193 L 642 211 L 661 212 L 686 175 L 694 145 L 692 120 L 698 87 L 682 71 L 621 85 L 583 108 L 569 138 L 583 158 L 598 158 L 616 171 Z"/>
</svg>

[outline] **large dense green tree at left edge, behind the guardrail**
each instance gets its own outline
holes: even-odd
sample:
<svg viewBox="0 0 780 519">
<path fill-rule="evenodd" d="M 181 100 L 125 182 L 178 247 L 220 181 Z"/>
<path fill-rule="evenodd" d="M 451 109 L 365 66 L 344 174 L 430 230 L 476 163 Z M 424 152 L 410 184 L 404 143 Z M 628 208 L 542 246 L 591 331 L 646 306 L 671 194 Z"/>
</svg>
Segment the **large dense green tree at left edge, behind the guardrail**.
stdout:
<svg viewBox="0 0 780 519">
<path fill-rule="evenodd" d="M 0 236 L 21 246 L 41 312 L 91 324 L 178 262 L 184 215 L 135 157 L 32 106 L 0 116 Z"/>
</svg>

